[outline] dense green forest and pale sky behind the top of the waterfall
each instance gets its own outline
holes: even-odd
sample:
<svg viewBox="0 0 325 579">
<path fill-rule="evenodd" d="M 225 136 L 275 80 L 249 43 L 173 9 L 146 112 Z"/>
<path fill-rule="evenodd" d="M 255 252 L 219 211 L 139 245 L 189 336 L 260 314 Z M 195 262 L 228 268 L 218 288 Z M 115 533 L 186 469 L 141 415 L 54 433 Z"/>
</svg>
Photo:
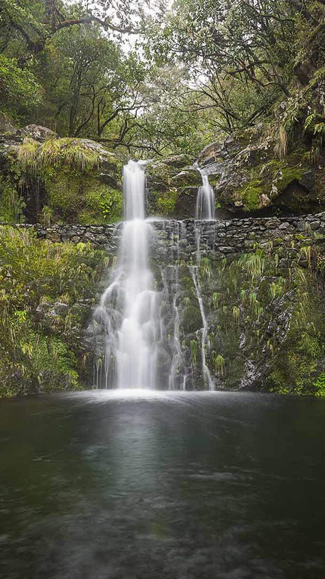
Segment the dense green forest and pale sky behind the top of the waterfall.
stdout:
<svg viewBox="0 0 325 579">
<path fill-rule="evenodd" d="M 325 139 L 324 0 L 2 0 L 0 107 L 139 157 L 197 153 L 254 126 Z M 285 115 L 275 123 L 282 101 Z M 323 105 L 324 106 L 324 105 Z"/>
</svg>

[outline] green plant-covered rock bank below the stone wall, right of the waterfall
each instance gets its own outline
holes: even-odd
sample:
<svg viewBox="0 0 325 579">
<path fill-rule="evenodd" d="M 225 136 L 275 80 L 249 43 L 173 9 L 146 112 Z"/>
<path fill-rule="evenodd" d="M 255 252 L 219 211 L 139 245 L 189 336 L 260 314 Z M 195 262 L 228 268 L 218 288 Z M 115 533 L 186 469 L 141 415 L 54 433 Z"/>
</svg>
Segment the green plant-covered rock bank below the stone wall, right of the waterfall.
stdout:
<svg viewBox="0 0 325 579">
<path fill-rule="evenodd" d="M 256 376 L 251 387 L 324 395 L 325 324 L 317 281 L 317 272 L 323 276 L 323 246 L 312 270 L 316 250 L 305 243 L 302 236 L 298 247 L 282 240 L 257 247 L 234 261 L 214 262 L 211 277 L 201 277 L 213 328 L 206 354 L 221 386 L 238 388 L 249 363 Z M 301 261 L 309 269 L 302 269 Z"/>
</svg>

